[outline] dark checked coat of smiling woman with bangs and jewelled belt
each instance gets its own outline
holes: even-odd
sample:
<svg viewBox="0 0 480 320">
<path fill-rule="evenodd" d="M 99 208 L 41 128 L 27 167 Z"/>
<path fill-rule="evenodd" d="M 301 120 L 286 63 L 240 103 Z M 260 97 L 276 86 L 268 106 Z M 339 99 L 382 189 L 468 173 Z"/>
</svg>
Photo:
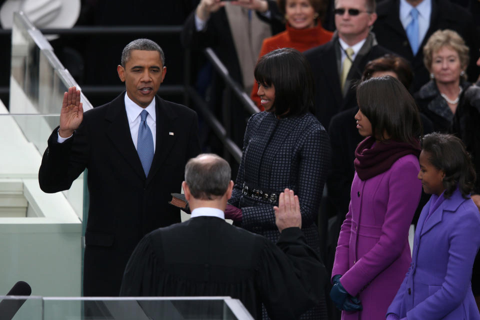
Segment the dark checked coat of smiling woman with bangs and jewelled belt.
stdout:
<svg viewBox="0 0 480 320">
<path fill-rule="evenodd" d="M 242 209 L 239 226 L 276 242 L 280 233 L 273 205 L 278 202 L 279 192 L 287 187 L 298 195 L 306 242 L 318 252 L 316 218 L 329 163 L 328 135 L 311 113 L 282 119 L 270 112 L 252 115 L 228 201 Z M 251 192 L 244 194 L 244 185 L 250 191 L 259 189 L 270 194 L 258 198 Z"/>
</svg>

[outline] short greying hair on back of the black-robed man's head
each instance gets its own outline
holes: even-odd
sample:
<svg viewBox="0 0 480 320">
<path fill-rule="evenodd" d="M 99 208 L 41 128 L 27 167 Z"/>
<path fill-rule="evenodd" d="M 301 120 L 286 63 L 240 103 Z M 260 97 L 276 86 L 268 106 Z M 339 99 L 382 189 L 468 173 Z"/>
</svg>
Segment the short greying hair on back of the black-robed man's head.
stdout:
<svg viewBox="0 0 480 320">
<path fill-rule="evenodd" d="M 191 195 L 199 200 L 212 200 L 225 194 L 230 176 L 228 162 L 212 153 L 199 154 L 185 165 L 186 184 Z"/>
</svg>

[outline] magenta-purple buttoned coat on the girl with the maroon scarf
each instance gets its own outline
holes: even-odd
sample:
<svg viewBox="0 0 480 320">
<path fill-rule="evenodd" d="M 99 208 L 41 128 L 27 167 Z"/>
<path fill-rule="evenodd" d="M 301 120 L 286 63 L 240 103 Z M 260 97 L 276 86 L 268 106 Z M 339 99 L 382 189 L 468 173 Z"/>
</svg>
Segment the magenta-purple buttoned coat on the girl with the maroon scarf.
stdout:
<svg viewBox="0 0 480 320">
<path fill-rule="evenodd" d="M 363 310 L 342 311 L 342 320 L 385 318 L 411 262 L 408 228 L 420 199 L 419 169 L 418 158 L 408 154 L 367 180 L 355 172 L 331 274 L 342 275 Z"/>
</svg>

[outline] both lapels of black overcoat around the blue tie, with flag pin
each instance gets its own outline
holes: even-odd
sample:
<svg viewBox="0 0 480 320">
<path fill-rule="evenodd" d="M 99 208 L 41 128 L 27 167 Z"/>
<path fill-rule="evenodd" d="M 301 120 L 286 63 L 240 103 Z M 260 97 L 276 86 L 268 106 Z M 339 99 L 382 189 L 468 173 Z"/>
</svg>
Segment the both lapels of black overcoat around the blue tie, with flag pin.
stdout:
<svg viewBox="0 0 480 320">
<path fill-rule="evenodd" d="M 125 91 L 106 105 L 105 121 L 109 123 L 106 128 L 106 134 L 136 174 L 138 174 L 140 178 L 145 179 L 140 158 L 131 140 L 130 127 L 125 110 L 124 94 Z M 156 147 L 150 171 L 148 172 L 148 177 L 146 177 L 147 184 L 165 160 L 176 140 L 176 136 L 174 135 L 176 114 L 171 107 L 167 105 L 166 101 L 157 95 L 155 95 L 155 113 Z M 170 134 L 170 132 L 173 133 L 173 135 Z"/>
</svg>

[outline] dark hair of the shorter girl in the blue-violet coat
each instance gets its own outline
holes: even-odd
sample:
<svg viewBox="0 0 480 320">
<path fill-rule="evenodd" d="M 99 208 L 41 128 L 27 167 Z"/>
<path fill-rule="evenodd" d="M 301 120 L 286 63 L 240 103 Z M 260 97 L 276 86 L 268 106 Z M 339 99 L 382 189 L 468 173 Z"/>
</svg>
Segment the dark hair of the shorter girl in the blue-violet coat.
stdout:
<svg viewBox="0 0 480 320">
<path fill-rule="evenodd" d="M 475 169 L 463 142 L 454 135 L 433 132 L 423 137 L 421 148 L 428 153 L 430 163 L 445 173 L 444 197 L 450 197 L 458 186 L 461 195 L 466 198 L 473 189 Z"/>
</svg>

